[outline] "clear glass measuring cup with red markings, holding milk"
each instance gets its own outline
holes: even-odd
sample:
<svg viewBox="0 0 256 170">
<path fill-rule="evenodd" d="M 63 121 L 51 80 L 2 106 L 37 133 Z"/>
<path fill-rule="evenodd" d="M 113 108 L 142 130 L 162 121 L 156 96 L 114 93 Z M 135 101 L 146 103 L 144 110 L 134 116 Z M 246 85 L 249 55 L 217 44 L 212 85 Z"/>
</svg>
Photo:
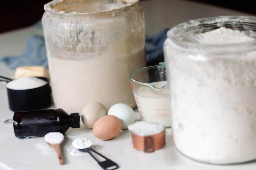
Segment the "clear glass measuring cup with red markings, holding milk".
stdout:
<svg viewBox="0 0 256 170">
<path fill-rule="evenodd" d="M 144 67 L 130 74 L 132 91 L 142 121 L 171 126 L 165 63 Z"/>
</svg>

